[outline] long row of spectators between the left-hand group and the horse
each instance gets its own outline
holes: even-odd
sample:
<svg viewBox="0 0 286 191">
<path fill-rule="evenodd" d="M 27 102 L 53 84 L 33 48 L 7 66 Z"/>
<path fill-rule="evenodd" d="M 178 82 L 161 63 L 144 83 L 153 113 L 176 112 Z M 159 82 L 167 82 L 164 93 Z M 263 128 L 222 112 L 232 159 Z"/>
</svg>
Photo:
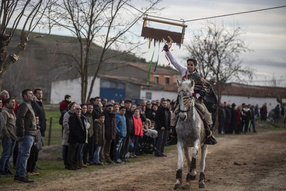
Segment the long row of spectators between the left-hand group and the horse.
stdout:
<svg viewBox="0 0 286 191">
<path fill-rule="evenodd" d="M 132 104 L 130 100 L 115 103 L 95 97 L 77 105 L 70 95 L 65 95 L 59 108 L 62 156 L 67 170 L 129 162 L 128 158 L 137 158 L 142 153 L 143 144 L 149 149 L 153 147 L 155 156 L 166 157 L 164 147 L 170 130 L 170 100 L 142 100 Z"/>
</svg>

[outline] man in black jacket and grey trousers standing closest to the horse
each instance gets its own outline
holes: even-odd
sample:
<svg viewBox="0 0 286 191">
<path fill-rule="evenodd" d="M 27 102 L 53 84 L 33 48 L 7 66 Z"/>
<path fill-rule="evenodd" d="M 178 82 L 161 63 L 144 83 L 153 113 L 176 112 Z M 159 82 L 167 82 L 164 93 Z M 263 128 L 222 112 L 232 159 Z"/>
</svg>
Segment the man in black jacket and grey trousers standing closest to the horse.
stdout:
<svg viewBox="0 0 286 191">
<path fill-rule="evenodd" d="M 168 138 L 168 131 L 170 130 L 171 114 L 167 108 L 167 101 L 161 101 L 161 107 L 156 111 L 155 122 L 156 130 L 158 131 L 158 140 L 156 144 L 155 155 L 157 157 L 163 157 L 165 143 Z"/>
</svg>

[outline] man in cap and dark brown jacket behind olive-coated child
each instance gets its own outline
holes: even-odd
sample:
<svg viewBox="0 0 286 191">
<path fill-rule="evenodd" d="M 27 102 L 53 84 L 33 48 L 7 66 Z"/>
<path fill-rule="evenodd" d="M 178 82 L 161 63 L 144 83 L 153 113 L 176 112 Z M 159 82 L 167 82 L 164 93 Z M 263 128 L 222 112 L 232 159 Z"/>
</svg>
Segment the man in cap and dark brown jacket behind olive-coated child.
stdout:
<svg viewBox="0 0 286 191">
<path fill-rule="evenodd" d="M 103 162 L 103 155 L 105 157 L 106 164 L 114 164 L 112 162 L 109 152 L 110 152 L 110 147 L 112 140 L 115 139 L 116 137 L 116 119 L 115 119 L 115 114 L 112 113 L 113 110 L 113 104 L 112 103 L 107 103 L 105 105 L 105 111 L 102 112 L 105 116 L 104 120 L 104 126 L 105 126 L 105 133 L 104 133 L 104 146 L 101 147 L 100 149 L 100 154 L 99 154 L 99 161 Z"/>
</svg>

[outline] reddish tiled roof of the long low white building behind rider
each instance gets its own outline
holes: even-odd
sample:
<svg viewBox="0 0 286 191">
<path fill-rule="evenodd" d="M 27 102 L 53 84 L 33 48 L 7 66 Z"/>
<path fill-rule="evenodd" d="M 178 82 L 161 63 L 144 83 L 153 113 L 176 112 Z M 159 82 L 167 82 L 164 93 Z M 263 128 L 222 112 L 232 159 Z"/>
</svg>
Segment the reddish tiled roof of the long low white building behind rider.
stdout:
<svg viewBox="0 0 286 191">
<path fill-rule="evenodd" d="M 164 91 L 176 92 L 177 84 L 168 84 L 164 87 Z M 225 84 L 223 95 L 247 96 L 247 97 L 273 97 L 277 95 L 286 98 L 286 88 L 267 87 L 267 86 L 249 86 L 237 83 Z"/>
</svg>

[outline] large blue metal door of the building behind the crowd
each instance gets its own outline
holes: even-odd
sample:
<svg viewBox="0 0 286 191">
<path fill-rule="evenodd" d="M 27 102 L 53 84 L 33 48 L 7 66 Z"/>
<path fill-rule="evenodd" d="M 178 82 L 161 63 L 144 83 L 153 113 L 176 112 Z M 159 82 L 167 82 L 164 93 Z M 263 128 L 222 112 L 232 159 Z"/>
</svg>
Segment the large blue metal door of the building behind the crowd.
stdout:
<svg viewBox="0 0 286 191">
<path fill-rule="evenodd" d="M 113 99 L 118 102 L 120 99 L 125 100 L 125 89 L 100 88 L 100 97 L 106 98 L 108 101 Z"/>
</svg>

